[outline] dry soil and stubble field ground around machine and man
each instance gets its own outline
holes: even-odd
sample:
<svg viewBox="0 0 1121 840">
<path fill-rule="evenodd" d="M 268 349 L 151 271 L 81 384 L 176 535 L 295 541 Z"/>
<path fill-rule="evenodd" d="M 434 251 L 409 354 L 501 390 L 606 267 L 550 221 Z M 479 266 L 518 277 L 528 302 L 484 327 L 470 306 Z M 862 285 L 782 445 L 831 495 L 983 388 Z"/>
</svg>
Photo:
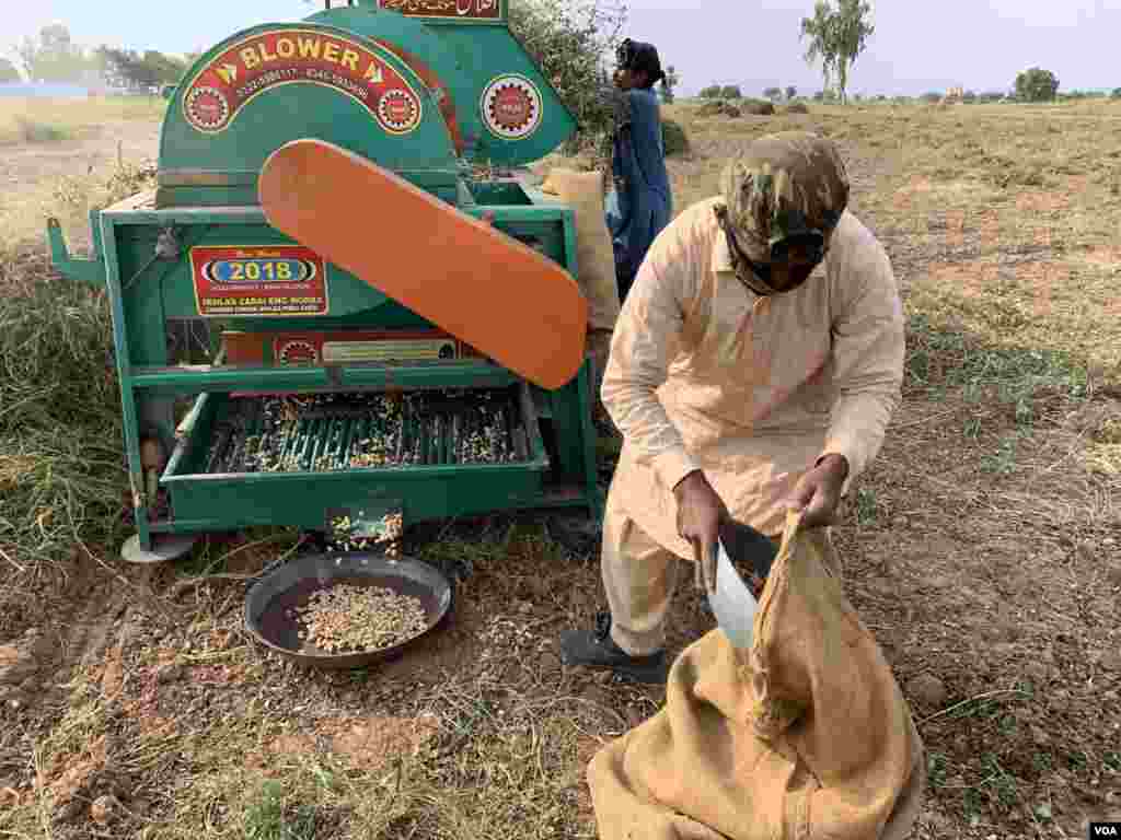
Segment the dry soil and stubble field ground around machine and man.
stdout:
<svg viewBox="0 0 1121 840">
<path fill-rule="evenodd" d="M 751 137 L 834 137 L 897 269 L 905 401 L 837 539 L 929 750 L 914 836 L 1076 838 L 1121 819 L 1121 109 L 673 115 L 693 144 L 671 165 L 679 207 Z M 15 243 L 40 235 L 41 207 L 87 203 L 124 137 L 155 153 L 155 123 L 121 121 L 0 164 L 16 178 L 0 180 L 3 293 L 47 288 L 85 319 L 31 337 L 70 348 L 58 358 L 105 418 L 104 301 Z M 12 311 L 9 332 L 38 324 Z M 49 386 L 21 384 L 27 370 L 0 380 L 0 836 L 594 837 L 586 760 L 663 699 L 559 666 L 557 632 L 602 605 L 594 544 L 563 548 L 528 517 L 416 529 L 406 552 L 462 580 L 450 627 L 381 670 L 300 672 L 254 647 L 240 613 L 245 578 L 295 538 L 122 566 L 119 430 L 59 417 L 66 381 L 40 365 Z M 684 591 L 676 648 L 711 627 Z"/>
</svg>

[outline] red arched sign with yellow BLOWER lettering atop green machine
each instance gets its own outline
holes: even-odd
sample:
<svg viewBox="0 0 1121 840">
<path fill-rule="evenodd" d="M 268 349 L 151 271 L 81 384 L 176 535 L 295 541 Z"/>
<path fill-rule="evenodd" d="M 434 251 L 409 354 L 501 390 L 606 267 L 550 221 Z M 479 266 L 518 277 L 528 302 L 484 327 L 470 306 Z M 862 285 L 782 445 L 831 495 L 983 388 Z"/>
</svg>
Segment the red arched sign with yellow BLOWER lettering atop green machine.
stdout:
<svg viewBox="0 0 1121 840">
<path fill-rule="evenodd" d="M 187 85 L 183 113 L 197 131 L 216 134 L 259 94 L 294 83 L 346 94 L 391 134 L 420 124 L 420 97 L 371 45 L 314 29 L 258 32 L 228 47 Z"/>
</svg>

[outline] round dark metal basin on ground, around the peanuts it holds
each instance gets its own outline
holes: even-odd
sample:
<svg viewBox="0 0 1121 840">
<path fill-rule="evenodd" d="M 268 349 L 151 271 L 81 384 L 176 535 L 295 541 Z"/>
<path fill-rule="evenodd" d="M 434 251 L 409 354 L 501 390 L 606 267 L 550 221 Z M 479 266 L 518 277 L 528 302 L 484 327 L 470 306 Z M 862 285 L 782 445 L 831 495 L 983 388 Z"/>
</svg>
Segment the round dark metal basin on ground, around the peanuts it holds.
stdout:
<svg viewBox="0 0 1121 840">
<path fill-rule="evenodd" d="M 391 647 L 354 653 L 328 653 L 299 638 L 299 622 L 289 612 L 339 584 L 381 587 L 419 599 L 427 618 L 425 628 Z M 314 554 L 281 566 L 249 590 L 245 629 L 266 647 L 303 665 L 364 668 L 400 656 L 435 631 L 451 607 L 452 585 L 427 563 L 408 558 L 393 561 L 376 553 Z"/>
</svg>

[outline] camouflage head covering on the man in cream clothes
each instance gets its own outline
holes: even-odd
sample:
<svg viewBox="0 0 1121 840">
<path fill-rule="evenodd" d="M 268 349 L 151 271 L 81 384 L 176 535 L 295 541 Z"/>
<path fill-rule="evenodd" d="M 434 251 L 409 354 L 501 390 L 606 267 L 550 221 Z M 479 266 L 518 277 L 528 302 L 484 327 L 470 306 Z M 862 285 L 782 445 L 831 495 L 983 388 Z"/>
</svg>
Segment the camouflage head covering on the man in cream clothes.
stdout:
<svg viewBox="0 0 1121 840">
<path fill-rule="evenodd" d="M 849 177 L 830 140 L 788 131 L 753 141 L 724 169 L 721 192 L 716 213 L 736 273 L 757 293 L 771 295 L 768 267 L 791 242 L 808 245 L 815 263 L 825 258 L 849 204 Z"/>
</svg>

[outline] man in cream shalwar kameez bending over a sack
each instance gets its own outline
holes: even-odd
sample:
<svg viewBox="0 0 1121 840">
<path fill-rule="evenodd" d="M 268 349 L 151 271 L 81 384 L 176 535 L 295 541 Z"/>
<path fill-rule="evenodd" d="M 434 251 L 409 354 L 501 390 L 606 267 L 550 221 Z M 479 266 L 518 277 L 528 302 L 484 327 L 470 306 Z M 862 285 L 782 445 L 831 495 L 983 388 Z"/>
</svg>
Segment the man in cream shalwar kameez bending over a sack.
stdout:
<svg viewBox="0 0 1121 840">
<path fill-rule="evenodd" d="M 772 539 L 789 508 L 827 526 L 879 452 L 900 398 L 902 307 L 847 202 L 832 142 L 773 134 L 654 242 L 601 391 L 624 439 L 603 523 L 610 614 L 564 634 L 566 664 L 664 680 L 678 559 L 711 580 L 702 547 L 721 517 Z"/>
</svg>

